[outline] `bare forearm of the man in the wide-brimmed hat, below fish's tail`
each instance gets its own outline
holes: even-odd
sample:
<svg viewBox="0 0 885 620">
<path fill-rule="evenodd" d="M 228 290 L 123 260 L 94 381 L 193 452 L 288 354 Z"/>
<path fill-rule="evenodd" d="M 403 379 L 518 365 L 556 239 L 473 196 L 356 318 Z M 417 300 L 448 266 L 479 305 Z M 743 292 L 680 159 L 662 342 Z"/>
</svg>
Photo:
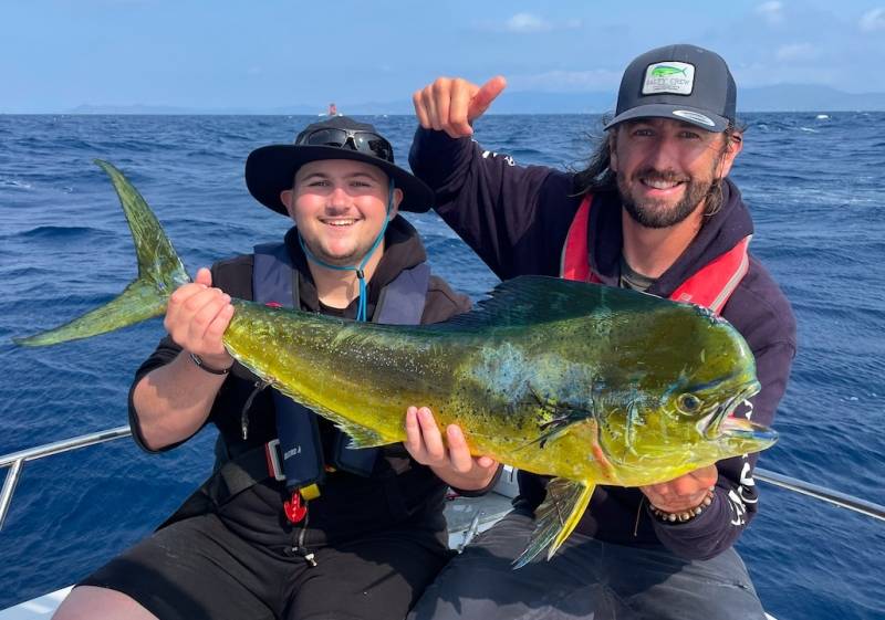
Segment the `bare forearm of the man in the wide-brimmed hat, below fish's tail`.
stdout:
<svg viewBox="0 0 885 620">
<path fill-rule="evenodd" d="M 226 377 L 198 368 L 186 351 L 145 375 L 132 396 L 145 446 L 160 450 L 196 433 L 206 423 Z"/>
</svg>

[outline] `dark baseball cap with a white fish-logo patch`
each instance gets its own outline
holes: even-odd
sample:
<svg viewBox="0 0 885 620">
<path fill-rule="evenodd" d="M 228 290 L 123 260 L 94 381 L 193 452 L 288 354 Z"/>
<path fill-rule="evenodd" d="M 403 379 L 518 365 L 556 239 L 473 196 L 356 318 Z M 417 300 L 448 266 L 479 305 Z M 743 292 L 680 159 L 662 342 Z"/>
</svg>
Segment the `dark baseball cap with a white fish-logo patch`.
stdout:
<svg viewBox="0 0 885 620">
<path fill-rule="evenodd" d="M 615 117 L 606 129 L 634 118 L 673 118 L 708 132 L 735 125 L 737 85 L 722 57 L 696 45 L 657 48 L 624 71 Z"/>
</svg>

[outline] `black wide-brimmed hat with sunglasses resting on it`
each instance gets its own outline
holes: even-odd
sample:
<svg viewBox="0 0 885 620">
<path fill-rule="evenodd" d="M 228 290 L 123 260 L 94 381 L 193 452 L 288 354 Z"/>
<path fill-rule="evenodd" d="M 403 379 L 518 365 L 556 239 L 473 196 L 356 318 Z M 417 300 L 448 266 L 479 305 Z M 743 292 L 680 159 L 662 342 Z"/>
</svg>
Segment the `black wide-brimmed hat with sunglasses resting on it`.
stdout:
<svg viewBox="0 0 885 620">
<path fill-rule="evenodd" d="M 352 159 L 377 166 L 403 190 L 400 211 L 424 213 L 434 206 L 434 191 L 394 164 L 394 149 L 374 126 L 346 116 L 309 125 L 291 145 L 257 148 L 246 159 L 246 187 L 256 200 L 287 216 L 280 192 L 292 189 L 295 171 L 309 161 Z"/>
</svg>

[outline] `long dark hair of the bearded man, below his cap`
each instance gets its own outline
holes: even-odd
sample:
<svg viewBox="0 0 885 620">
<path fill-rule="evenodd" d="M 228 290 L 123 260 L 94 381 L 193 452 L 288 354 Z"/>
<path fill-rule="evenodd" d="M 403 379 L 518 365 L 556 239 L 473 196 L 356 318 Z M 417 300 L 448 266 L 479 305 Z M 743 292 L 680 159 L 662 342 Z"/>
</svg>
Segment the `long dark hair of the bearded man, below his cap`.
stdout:
<svg viewBox="0 0 885 620">
<path fill-rule="evenodd" d="M 603 125 L 610 122 L 608 118 L 603 117 Z M 596 148 L 590 156 L 586 167 L 575 172 L 574 176 L 574 196 L 582 196 L 584 193 L 600 193 L 603 191 L 617 191 L 617 176 L 610 167 L 612 162 L 612 145 L 613 140 L 617 137 L 617 132 L 622 125 L 617 125 L 614 129 L 602 136 L 591 136 L 593 141 L 596 141 Z M 745 130 L 743 125 L 729 123 L 728 127 L 722 132 L 725 140 L 722 148 L 719 151 L 720 157 L 723 156 L 729 147 L 735 141 L 742 140 Z M 714 216 L 722 208 L 722 179 L 716 179 L 710 185 L 710 190 L 706 196 L 706 208 L 704 214 L 707 217 Z"/>
</svg>

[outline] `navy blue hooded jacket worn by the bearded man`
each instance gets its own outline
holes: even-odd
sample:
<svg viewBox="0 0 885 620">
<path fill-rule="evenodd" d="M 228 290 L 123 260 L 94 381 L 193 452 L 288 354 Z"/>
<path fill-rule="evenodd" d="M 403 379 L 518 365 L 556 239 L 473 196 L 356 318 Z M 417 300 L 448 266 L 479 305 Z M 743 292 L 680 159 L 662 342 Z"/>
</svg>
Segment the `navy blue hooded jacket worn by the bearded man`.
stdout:
<svg viewBox="0 0 885 620">
<path fill-rule="evenodd" d="M 582 196 L 574 175 L 542 166 L 517 166 L 510 156 L 483 150 L 469 138 L 418 129 L 409 165 L 437 197 L 437 212 L 502 280 L 524 274 L 559 275 L 562 248 Z M 723 207 L 706 220 L 683 255 L 649 288 L 669 296 L 710 260 L 753 231 L 740 192 L 723 185 Z M 591 265 L 603 282 L 618 285 L 622 250 L 621 202 L 614 192 L 594 196 Z M 795 355 L 795 319 L 778 285 L 752 255 L 747 275 L 722 316 L 756 356 L 762 390 L 752 399 L 752 419 L 770 425 Z M 746 411 L 737 414 L 746 416 Z M 729 548 L 758 511 L 751 472 L 757 455 L 717 463 L 719 480 L 709 508 L 683 524 L 664 524 L 636 488 L 597 486 L 577 530 L 618 544 L 663 544 L 685 558 L 710 558 Z M 517 506 L 533 509 L 544 498 L 545 480 L 520 474 Z"/>
</svg>

